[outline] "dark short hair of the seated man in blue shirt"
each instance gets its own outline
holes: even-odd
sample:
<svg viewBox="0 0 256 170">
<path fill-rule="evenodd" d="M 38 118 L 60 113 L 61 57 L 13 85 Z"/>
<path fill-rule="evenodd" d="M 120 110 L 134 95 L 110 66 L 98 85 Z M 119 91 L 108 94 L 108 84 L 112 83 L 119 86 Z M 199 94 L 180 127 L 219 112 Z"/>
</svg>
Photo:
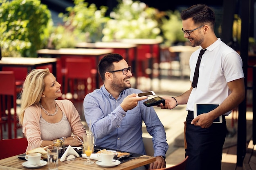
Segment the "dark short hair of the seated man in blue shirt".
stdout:
<svg viewBox="0 0 256 170">
<path fill-rule="evenodd" d="M 111 53 L 108 55 L 105 55 L 98 64 L 98 71 L 99 75 L 101 76 L 101 79 L 104 81 L 105 80 L 105 73 L 107 71 L 113 71 L 114 69 L 114 64 L 113 62 L 119 62 L 123 60 L 124 58 L 117 53 Z"/>
</svg>

